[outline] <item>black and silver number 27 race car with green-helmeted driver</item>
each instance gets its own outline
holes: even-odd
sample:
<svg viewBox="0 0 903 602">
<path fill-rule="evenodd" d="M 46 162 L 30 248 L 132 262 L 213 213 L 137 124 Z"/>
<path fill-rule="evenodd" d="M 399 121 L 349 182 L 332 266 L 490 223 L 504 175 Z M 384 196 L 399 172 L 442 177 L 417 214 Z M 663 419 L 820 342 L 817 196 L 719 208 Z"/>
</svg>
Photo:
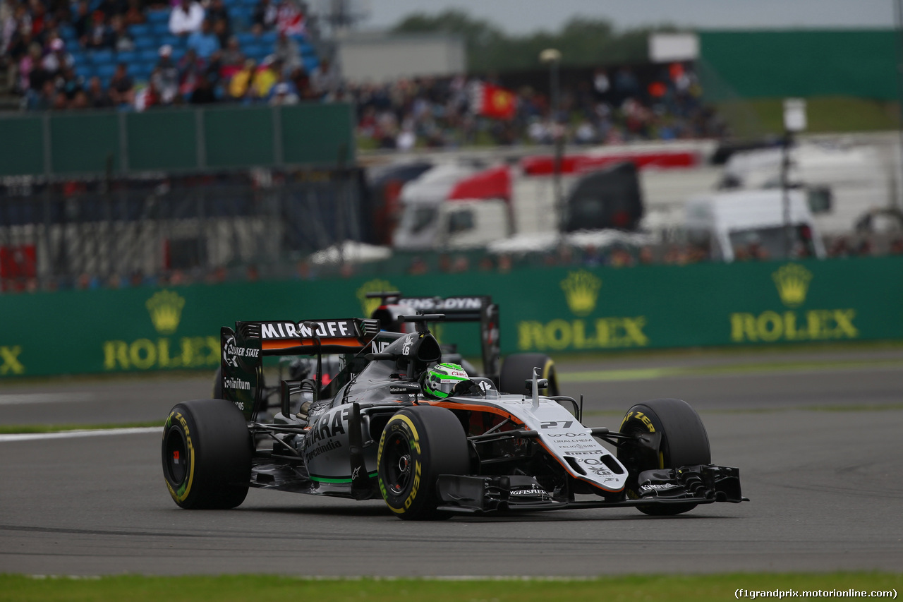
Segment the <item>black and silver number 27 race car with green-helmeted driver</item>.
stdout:
<svg viewBox="0 0 903 602">
<path fill-rule="evenodd" d="M 179 403 L 163 428 L 175 503 L 232 508 L 259 487 L 381 497 L 399 518 L 437 519 L 622 506 L 678 514 L 746 501 L 739 470 L 711 464 L 703 423 L 684 401 L 637 404 L 617 431 L 584 427 L 582 402 L 539 394 L 548 386 L 540 367 L 523 392 L 502 393 L 489 378 L 438 363 L 427 323 L 442 315 L 399 319 L 414 333 L 359 318 L 222 328 L 226 399 Z M 315 358 L 316 373 L 281 381 L 279 411 L 260 421 L 263 356 L 286 354 Z M 328 384 L 324 354 L 344 364 Z"/>
</svg>

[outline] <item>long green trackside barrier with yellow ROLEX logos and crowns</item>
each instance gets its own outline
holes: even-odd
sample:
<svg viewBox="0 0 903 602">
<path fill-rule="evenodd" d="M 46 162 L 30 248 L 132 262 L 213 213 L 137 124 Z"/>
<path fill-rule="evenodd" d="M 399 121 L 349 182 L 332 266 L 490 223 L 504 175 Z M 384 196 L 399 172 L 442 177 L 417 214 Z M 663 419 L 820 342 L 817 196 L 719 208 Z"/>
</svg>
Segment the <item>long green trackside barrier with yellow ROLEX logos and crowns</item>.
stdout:
<svg viewBox="0 0 903 602">
<path fill-rule="evenodd" d="M 214 368 L 236 320 L 369 315 L 371 291 L 489 294 L 503 353 L 903 339 L 903 258 L 545 268 L 0 296 L 0 378 Z M 439 325 L 479 355 L 476 325 Z"/>
</svg>

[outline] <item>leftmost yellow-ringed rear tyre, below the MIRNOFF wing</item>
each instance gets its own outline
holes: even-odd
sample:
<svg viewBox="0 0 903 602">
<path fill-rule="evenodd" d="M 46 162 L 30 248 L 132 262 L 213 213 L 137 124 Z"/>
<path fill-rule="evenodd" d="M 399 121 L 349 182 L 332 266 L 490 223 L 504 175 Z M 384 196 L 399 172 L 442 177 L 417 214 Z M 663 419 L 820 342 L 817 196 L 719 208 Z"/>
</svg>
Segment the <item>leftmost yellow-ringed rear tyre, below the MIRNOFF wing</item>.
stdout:
<svg viewBox="0 0 903 602">
<path fill-rule="evenodd" d="M 163 425 L 163 478 L 182 508 L 234 508 L 251 478 L 251 433 L 226 400 L 177 404 Z"/>
</svg>

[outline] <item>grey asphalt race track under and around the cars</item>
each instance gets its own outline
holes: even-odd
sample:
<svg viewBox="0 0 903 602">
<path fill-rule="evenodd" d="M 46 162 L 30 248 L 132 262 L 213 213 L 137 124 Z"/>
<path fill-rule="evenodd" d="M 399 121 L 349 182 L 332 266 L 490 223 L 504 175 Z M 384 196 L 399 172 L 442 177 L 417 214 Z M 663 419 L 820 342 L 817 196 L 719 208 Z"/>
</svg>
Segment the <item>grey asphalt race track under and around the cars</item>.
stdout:
<svg viewBox="0 0 903 602">
<path fill-rule="evenodd" d="M 579 576 L 903 568 L 903 348 L 559 360 L 559 370 L 572 375 L 563 377 L 563 392 L 586 393 L 592 426 L 616 428 L 639 400 L 690 401 L 708 429 L 712 461 L 739 466 L 752 501 L 668 518 L 618 509 L 403 522 L 381 501 L 252 489 L 236 510 L 188 512 L 163 485 L 157 432 L 0 438 L 0 572 Z M 7 382 L 0 424 L 162 421 L 174 403 L 208 390 L 206 375 Z"/>
</svg>

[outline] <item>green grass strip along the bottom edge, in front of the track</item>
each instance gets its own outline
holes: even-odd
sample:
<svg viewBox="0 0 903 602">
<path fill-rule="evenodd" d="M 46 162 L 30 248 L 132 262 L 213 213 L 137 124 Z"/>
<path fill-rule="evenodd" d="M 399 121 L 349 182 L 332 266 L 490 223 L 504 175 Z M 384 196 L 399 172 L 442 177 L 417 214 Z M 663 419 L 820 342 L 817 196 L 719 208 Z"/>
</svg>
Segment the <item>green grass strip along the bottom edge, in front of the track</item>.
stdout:
<svg viewBox="0 0 903 602">
<path fill-rule="evenodd" d="M 265 576 L 228 577 L 105 577 L 31 578 L 0 576 L 0 600 L 129 600 L 157 602 L 191 600 L 368 600 L 398 602 L 424 600 L 729 600 L 738 589 L 895 591 L 903 588 L 903 575 L 889 573 L 733 574 L 713 576 L 652 576 L 589 579 L 312 579 Z M 867 594 L 868 595 L 868 594 Z M 891 595 L 891 599 L 896 597 Z M 752 599 L 752 597 L 740 597 Z"/>
</svg>

